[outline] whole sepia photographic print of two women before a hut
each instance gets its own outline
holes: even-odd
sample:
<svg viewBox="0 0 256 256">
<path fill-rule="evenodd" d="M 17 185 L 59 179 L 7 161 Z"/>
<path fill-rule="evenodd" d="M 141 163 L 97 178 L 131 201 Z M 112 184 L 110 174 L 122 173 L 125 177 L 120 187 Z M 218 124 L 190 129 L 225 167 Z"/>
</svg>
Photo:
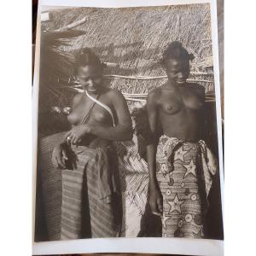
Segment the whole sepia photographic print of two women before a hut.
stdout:
<svg viewBox="0 0 256 256">
<path fill-rule="evenodd" d="M 34 241 L 223 241 L 212 4 L 38 15 Z"/>
</svg>

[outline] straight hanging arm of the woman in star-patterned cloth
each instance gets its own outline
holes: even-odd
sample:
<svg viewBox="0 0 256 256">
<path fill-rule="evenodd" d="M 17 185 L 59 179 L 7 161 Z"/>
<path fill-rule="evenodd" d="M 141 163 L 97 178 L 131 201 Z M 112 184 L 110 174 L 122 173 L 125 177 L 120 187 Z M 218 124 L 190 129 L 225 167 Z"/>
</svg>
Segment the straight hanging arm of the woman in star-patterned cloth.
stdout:
<svg viewBox="0 0 256 256">
<path fill-rule="evenodd" d="M 157 92 L 153 90 L 148 94 L 147 113 L 151 137 L 147 145 L 147 159 L 149 172 L 149 205 L 151 211 L 156 215 L 162 213 L 162 195 L 156 179 L 156 147 L 157 137 Z"/>
</svg>

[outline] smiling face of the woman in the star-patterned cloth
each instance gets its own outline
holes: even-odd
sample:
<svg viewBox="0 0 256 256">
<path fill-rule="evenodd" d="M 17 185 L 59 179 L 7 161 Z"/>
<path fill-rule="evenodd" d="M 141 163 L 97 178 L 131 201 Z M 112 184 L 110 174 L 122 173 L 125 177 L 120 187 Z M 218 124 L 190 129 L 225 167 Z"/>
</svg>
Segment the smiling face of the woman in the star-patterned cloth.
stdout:
<svg viewBox="0 0 256 256">
<path fill-rule="evenodd" d="M 166 74 L 169 80 L 175 84 L 185 84 L 189 78 L 189 60 L 170 59 L 166 61 Z"/>
</svg>

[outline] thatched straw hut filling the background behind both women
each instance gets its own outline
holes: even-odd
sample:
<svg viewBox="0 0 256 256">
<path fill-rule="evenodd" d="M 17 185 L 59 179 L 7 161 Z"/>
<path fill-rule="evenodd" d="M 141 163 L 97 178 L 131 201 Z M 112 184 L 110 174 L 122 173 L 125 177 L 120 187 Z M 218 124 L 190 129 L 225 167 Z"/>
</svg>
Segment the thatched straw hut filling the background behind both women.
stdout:
<svg viewBox="0 0 256 256">
<path fill-rule="evenodd" d="M 39 133 L 46 136 L 68 129 L 65 110 L 80 90 L 73 72 L 79 49 L 89 47 L 102 61 L 117 64 L 106 68 L 106 83 L 124 93 L 135 130 L 131 142 L 117 146 L 124 195 L 123 236 L 137 236 L 148 189 L 147 165 L 140 159 L 146 130 L 141 107 L 148 91 L 166 81 L 159 63 L 173 40 L 195 55 L 189 79 L 204 85 L 206 91 L 213 90 L 210 5 L 51 9 L 47 17 L 41 28 Z"/>
</svg>

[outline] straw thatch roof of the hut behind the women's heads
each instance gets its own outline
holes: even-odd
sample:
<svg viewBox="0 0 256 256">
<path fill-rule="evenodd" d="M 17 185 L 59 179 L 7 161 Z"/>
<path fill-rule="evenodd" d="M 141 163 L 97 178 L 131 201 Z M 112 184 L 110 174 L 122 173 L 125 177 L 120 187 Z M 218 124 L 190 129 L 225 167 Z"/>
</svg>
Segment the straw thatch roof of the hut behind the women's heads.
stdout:
<svg viewBox="0 0 256 256">
<path fill-rule="evenodd" d="M 41 112 L 70 104 L 75 87 L 74 55 L 79 49 L 93 49 L 102 61 L 119 64 L 106 75 L 164 76 L 159 61 L 166 45 L 183 43 L 195 55 L 189 79 L 213 88 L 210 5 L 187 4 L 126 9 L 72 8 L 50 11 L 42 22 L 40 69 Z M 85 20 L 67 32 L 60 28 Z M 64 29 L 65 31 L 65 29 Z M 202 65 L 206 63 L 207 65 Z M 201 74 L 201 73 L 204 74 Z M 142 94 L 163 84 L 165 79 L 106 79 L 124 93 Z M 129 105 L 133 106 L 132 102 Z"/>
</svg>

